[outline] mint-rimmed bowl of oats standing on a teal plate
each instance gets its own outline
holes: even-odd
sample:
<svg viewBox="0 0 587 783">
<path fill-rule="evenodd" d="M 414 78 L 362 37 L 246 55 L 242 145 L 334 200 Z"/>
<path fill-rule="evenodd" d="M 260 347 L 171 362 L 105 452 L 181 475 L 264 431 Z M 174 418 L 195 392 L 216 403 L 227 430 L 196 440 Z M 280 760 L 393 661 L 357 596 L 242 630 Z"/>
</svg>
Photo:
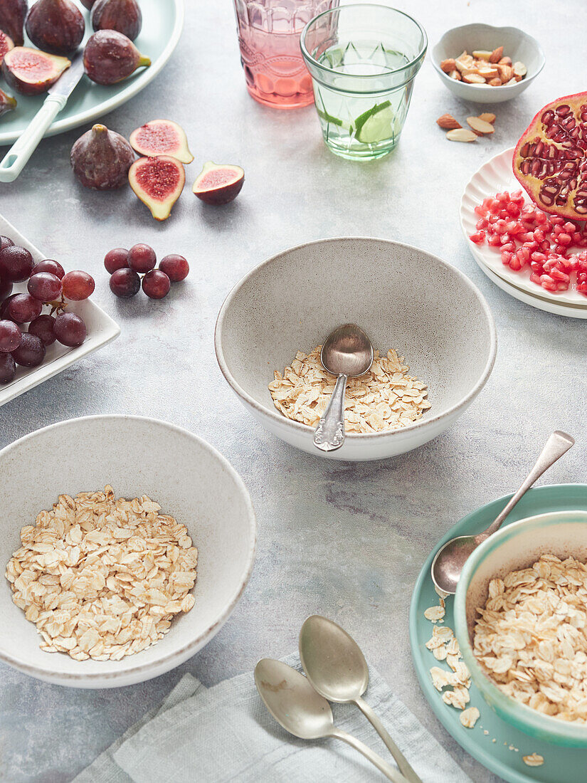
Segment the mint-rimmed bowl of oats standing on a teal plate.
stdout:
<svg viewBox="0 0 587 783">
<path fill-rule="evenodd" d="M 554 511 L 520 519 L 502 528 L 466 561 L 455 596 L 455 633 L 471 678 L 485 701 L 520 731 L 554 745 L 587 748 L 587 726 L 538 713 L 506 696 L 487 677 L 473 653 L 476 609 L 488 597 L 491 579 L 528 568 L 541 554 L 587 560 L 587 512 Z"/>
</svg>

